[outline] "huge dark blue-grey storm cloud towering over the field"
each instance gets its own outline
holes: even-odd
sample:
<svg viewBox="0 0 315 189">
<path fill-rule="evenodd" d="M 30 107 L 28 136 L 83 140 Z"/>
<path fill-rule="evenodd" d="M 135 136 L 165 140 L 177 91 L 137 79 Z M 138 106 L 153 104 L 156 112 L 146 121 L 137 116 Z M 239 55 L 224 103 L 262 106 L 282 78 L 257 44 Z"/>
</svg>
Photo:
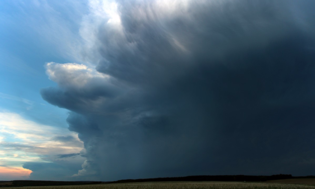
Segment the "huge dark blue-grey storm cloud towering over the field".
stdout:
<svg viewBox="0 0 315 189">
<path fill-rule="evenodd" d="M 41 91 L 72 111 L 76 176 L 312 174 L 314 3 L 301 2 L 117 2 L 121 21 L 95 32 L 110 78 L 54 64 L 59 88 Z"/>
</svg>

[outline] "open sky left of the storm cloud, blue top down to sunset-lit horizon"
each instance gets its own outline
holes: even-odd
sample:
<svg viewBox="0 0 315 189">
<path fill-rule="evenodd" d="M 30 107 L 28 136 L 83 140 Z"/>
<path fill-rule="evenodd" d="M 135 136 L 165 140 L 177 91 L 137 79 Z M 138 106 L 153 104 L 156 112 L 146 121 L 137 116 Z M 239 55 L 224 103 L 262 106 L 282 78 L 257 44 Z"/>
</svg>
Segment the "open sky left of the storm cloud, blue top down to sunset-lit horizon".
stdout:
<svg viewBox="0 0 315 189">
<path fill-rule="evenodd" d="M 68 45 L 72 43 L 69 38 L 78 36 L 81 14 L 86 11 L 84 6 L 84 2 L 0 2 L 0 150 L 3 152 L 0 155 L 3 160 L 0 164 L 7 167 L 0 172 L 0 180 L 27 179 L 28 171 L 28 175 L 22 174 L 24 177 L 18 173 L 8 176 L 8 172 L 22 168 L 25 162 L 51 162 L 44 160 L 44 157 L 59 153 L 78 153 L 83 148 L 78 141 L 77 145 L 80 147 L 76 150 L 60 149 L 53 153 L 44 149 L 35 150 L 38 145 L 49 143 L 50 140 L 53 144 L 53 137 L 76 135 L 67 129 L 66 118 L 69 111 L 44 101 L 40 89 L 56 85 L 46 74 L 47 62 L 65 63 L 77 60 Z M 75 8 L 71 13 L 68 10 L 70 7 Z M 29 129 L 20 130 L 17 124 L 28 125 Z M 33 141 L 23 137 L 35 132 L 37 127 L 49 129 L 31 136 Z M 40 136 L 47 138 L 43 140 Z M 9 144 L 12 147 L 8 147 Z M 31 147 L 14 147 L 18 144 Z M 53 150 L 59 145 L 60 143 L 55 143 L 45 148 Z M 82 164 L 82 160 L 78 164 Z"/>
</svg>

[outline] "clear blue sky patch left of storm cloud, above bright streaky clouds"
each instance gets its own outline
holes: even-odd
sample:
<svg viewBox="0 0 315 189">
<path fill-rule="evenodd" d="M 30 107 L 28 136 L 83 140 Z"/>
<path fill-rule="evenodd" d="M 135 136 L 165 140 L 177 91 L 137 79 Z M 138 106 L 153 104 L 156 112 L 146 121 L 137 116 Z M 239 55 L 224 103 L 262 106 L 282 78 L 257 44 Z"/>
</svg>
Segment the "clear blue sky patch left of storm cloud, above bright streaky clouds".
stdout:
<svg viewBox="0 0 315 189">
<path fill-rule="evenodd" d="M 58 41 L 61 43 L 62 39 L 50 32 L 54 27 L 61 27 L 58 22 L 65 22 L 59 16 L 62 12 L 49 7 L 58 5 L 45 3 L 43 6 L 36 1 L 2 1 L 1 4 L 1 108 L 36 122 L 66 127 L 67 111 L 47 104 L 39 93 L 41 88 L 54 85 L 45 74 L 45 62 L 71 61 L 71 57 L 60 52 L 63 45 Z M 32 105 L 13 100 L 14 97 L 27 99 Z"/>
</svg>

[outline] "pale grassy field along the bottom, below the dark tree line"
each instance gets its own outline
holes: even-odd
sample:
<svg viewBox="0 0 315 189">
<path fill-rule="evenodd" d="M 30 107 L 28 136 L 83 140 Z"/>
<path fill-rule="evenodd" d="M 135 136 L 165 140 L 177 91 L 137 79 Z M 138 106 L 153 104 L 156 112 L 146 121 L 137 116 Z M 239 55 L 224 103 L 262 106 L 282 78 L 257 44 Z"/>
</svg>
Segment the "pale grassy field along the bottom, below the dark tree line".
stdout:
<svg viewBox="0 0 315 189">
<path fill-rule="evenodd" d="M 8 187 L 11 189 L 21 189 L 21 187 Z M 303 188 L 315 188 L 315 185 L 301 185 L 301 184 L 284 184 L 284 183 L 253 183 L 253 182 L 137 182 L 137 183 L 116 183 L 116 184 L 92 184 L 92 185 L 68 185 L 68 186 L 27 186 L 23 189 L 83 189 L 83 188 L 95 188 L 95 189 L 303 189 Z"/>
</svg>

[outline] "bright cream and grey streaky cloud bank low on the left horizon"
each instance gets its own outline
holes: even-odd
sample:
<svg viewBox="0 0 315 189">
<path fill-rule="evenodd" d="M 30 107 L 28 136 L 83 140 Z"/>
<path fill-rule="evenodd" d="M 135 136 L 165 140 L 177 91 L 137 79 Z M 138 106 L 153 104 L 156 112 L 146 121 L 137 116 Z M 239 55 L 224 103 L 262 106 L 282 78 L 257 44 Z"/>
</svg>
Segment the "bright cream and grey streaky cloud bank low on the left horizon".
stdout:
<svg viewBox="0 0 315 189">
<path fill-rule="evenodd" d="M 66 128 L 38 124 L 16 113 L 0 112 L 2 180 L 74 179 L 71 175 L 85 160 L 79 156 L 82 148 L 77 135 Z"/>
</svg>

